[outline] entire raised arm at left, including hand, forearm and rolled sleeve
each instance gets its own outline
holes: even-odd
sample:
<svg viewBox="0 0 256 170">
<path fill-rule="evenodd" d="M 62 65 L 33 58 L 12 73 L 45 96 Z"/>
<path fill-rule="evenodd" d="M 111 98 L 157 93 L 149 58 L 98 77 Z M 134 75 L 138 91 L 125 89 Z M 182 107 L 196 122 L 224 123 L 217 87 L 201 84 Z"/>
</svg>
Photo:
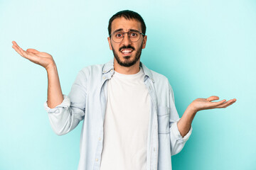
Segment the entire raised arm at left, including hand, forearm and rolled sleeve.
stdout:
<svg viewBox="0 0 256 170">
<path fill-rule="evenodd" d="M 48 101 L 44 106 L 48 112 L 53 131 L 57 135 L 64 135 L 73 130 L 85 115 L 85 74 L 79 72 L 69 96 L 65 96 L 61 91 L 57 67 L 51 55 L 34 49 L 22 50 L 15 41 L 13 41 L 12 47 L 22 57 L 46 69 L 48 74 Z"/>
</svg>

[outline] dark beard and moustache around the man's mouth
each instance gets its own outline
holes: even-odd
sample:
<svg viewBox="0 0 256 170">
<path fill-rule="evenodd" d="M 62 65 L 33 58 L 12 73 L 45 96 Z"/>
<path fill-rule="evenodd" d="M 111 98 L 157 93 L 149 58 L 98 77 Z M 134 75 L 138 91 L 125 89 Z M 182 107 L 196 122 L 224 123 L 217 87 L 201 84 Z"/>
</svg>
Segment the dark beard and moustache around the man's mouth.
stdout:
<svg viewBox="0 0 256 170">
<path fill-rule="evenodd" d="M 112 46 L 112 45 L 111 45 Z M 132 50 L 135 50 L 134 47 L 132 47 L 131 45 L 128 46 L 122 46 L 119 48 L 119 52 L 121 52 L 121 50 L 123 48 L 132 48 Z M 131 67 L 132 65 L 134 65 L 140 58 L 140 56 L 142 55 L 142 45 L 141 47 L 139 47 L 139 49 L 137 50 L 137 52 L 135 53 L 135 57 L 133 60 L 130 60 L 130 58 L 132 56 L 125 56 L 124 57 L 124 62 L 120 60 L 120 57 L 117 55 L 117 52 L 114 50 L 114 48 L 112 47 L 112 51 L 114 54 L 114 58 L 117 60 L 117 63 L 123 67 Z"/>
</svg>

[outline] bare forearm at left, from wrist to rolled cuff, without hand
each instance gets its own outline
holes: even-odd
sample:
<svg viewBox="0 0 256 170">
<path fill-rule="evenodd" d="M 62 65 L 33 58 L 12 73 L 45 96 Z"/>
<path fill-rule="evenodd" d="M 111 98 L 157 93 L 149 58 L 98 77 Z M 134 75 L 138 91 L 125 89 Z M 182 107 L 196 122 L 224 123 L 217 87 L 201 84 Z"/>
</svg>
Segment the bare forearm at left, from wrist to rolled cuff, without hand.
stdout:
<svg viewBox="0 0 256 170">
<path fill-rule="evenodd" d="M 60 79 L 55 64 L 46 69 L 48 75 L 47 103 L 49 108 L 55 108 L 63 102 L 63 93 L 60 87 Z"/>
</svg>

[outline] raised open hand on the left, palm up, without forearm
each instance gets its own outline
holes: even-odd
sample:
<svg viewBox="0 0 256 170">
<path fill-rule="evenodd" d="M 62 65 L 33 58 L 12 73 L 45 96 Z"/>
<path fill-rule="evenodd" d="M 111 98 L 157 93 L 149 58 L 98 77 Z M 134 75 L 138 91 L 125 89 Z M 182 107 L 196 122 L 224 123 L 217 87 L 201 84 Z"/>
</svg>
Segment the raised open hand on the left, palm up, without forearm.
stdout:
<svg viewBox="0 0 256 170">
<path fill-rule="evenodd" d="M 15 41 L 13 41 L 12 43 L 12 47 L 14 48 L 14 50 L 16 50 L 16 52 L 18 52 L 19 55 L 30 60 L 33 63 L 43 66 L 44 68 L 46 68 L 46 70 L 55 65 L 53 57 L 48 53 L 39 52 L 35 49 L 28 49 L 25 51 L 21 47 L 19 47 Z"/>
</svg>

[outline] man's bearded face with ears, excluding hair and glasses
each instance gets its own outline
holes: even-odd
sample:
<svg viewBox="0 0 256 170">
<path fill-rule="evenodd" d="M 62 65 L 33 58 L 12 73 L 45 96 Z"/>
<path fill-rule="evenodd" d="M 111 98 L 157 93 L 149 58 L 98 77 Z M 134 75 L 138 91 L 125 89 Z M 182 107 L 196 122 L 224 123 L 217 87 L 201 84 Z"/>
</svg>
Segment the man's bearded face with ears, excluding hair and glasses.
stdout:
<svg viewBox="0 0 256 170">
<path fill-rule="evenodd" d="M 122 42 L 119 43 L 114 42 L 112 38 L 107 38 L 110 50 L 113 51 L 114 58 L 119 65 L 123 67 L 131 67 L 139 62 L 142 49 L 146 47 L 146 35 L 144 37 L 140 35 L 137 42 L 132 42 L 129 39 L 127 32 L 129 30 L 138 30 L 139 33 L 142 33 L 142 26 L 139 21 L 134 19 L 127 20 L 124 17 L 116 18 L 112 21 L 111 33 L 114 33 L 116 30 L 121 30 L 126 34 L 124 34 Z"/>
</svg>

